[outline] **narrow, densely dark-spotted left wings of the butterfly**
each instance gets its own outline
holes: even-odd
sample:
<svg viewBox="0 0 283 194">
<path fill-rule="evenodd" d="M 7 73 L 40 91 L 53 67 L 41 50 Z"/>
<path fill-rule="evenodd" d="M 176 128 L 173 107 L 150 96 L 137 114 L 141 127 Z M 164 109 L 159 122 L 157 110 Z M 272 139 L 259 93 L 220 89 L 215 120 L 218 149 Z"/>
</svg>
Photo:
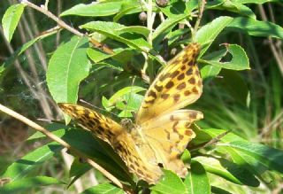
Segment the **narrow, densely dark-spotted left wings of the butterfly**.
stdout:
<svg viewBox="0 0 283 194">
<path fill-rule="evenodd" d="M 119 123 L 84 106 L 67 103 L 60 103 L 58 106 L 76 120 L 82 128 L 91 131 L 95 136 L 110 144 L 126 163 L 130 172 L 137 175 L 139 179 L 156 183 L 160 178 L 162 171 L 159 167 L 149 164 L 146 158 L 141 156 L 132 136 Z"/>
</svg>

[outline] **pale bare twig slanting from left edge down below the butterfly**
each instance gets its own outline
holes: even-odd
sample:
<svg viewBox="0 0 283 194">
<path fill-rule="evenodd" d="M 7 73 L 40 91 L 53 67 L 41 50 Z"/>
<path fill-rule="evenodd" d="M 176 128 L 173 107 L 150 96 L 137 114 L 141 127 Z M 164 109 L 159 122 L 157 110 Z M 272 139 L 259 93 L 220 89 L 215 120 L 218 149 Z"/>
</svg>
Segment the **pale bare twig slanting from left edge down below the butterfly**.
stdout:
<svg viewBox="0 0 283 194">
<path fill-rule="evenodd" d="M 70 151 L 72 151 L 73 153 L 75 153 L 81 159 L 84 159 L 85 161 L 87 161 L 90 166 L 95 167 L 98 171 L 100 171 L 103 175 L 105 175 L 109 180 L 111 180 L 111 182 L 115 183 L 119 188 L 125 190 L 127 193 L 133 193 L 132 190 L 129 190 L 129 188 L 126 187 L 126 185 L 119 182 L 119 180 L 115 176 L 111 175 L 103 167 L 99 166 L 95 161 L 88 159 L 88 157 L 85 156 L 83 153 L 74 149 L 70 144 L 66 143 L 63 139 L 61 139 L 61 138 L 55 136 L 54 134 L 50 133 L 50 131 L 48 131 L 47 129 L 42 128 L 42 126 L 36 124 L 34 121 L 27 119 L 23 115 L 16 113 L 16 112 L 12 111 L 11 109 L 9 109 L 9 108 L 5 107 L 4 105 L 1 105 L 1 104 L 0 104 L 0 111 L 10 115 L 11 117 L 13 117 L 17 120 L 22 121 L 23 123 L 27 124 L 29 127 L 34 128 L 35 130 L 42 132 L 42 134 L 44 134 L 45 136 L 48 136 L 50 139 L 54 140 L 58 144 L 63 145 L 65 148 L 67 148 Z"/>
</svg>

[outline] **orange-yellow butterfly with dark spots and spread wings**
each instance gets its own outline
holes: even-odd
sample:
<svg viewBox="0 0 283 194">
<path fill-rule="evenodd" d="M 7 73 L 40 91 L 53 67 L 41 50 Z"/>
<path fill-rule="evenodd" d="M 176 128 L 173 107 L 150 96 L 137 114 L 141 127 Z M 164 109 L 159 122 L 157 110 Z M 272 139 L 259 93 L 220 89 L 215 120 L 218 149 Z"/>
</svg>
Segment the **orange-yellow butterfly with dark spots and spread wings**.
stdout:
<svg viewBox="0 0 283 194">
<path fill-rule="evenodd" d="M 190 43 L 170 60 L 152 82 L 142 101 L 135 122 L 118 122 L 84 106 L 59 103 L 82 128 L 110 144 L 129 171 L 149 184 L 163 175 L 162 167 L 180 177 L 187 166 L 180 159 L 195 137 L 190 128 L 203 113 L 183 108 L 194 103 L 203 92 L 203 81 L 196 64 L 198 43 Z"/>
</svg>

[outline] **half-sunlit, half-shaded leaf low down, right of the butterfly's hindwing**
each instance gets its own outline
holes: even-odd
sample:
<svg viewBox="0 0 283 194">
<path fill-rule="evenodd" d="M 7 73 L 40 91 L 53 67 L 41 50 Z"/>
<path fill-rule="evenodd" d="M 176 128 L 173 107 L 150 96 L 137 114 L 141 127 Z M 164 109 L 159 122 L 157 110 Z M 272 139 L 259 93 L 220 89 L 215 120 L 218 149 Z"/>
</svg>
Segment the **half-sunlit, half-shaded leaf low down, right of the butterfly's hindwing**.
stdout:
<svg viewBox="0 0 283 194">
<path fill-rule="evenodd" d="M 230 182 L 253 187 L 257 187 L 260 183 L 247 169 L 229 160 L 203 156 L 195 157 L 194 160 L 200 162 L 207 172 L 221 176 Z"/>
</svg>

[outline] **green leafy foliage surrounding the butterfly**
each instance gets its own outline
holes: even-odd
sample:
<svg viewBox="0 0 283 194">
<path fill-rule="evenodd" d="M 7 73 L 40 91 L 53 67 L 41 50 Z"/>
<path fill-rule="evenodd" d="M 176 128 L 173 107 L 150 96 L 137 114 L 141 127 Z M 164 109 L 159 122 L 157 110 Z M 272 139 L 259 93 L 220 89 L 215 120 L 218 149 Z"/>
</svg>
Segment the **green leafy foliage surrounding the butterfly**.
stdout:
<svg viewBox="0 0 283 194">
<path fill-rule="evenodd" d="M 8 42 L 16 38 L 13 37 L 15 29 L 28 6 L 24 2 L 12 4 L 4 12 L 2 27 Z M 245 186 L 263 193 L 272 190 L 276 185 L 266 190 L 260 190 L 259 185 L 269 182 L 269 179 L 278 181 L 283 173 L 283 151 L 278 149 L 282 148 L 282 144 L 272 143 L 272 147 L 259 144 L 262 141 L 260 137 L 264 135 L 259 136 L 257 128 L 262 126 L 258 120 L 262 120 L 264 113 L 268 113 L 269 100 L 272 101 L 272 107 L 275 107 L 271 118 L 282 115 L 282 90 L 279 84 L 282 74 L 279 74 L 277 67 L 272 66 L 268 81 L 263 72 L 260 73 L 265 85 L 258 86 L 250 71 L 245 74 L 238 71 L 256 68 L 250 67 L 249 61 L 260 65 L 255 62 L 255 56 L 260 54 L 255 54 L 254 51 L 254 58 L 248 58 L 251 49 L 247 54 L 241 46 L 247 44 L 240 45 L 234 39 L 230 41 L 233 35 L 239 33 L 247 42 L 252 37 L 283 39 L 282 27 L 256 19 L 253 8 L 256 4 L 267 2 L 282 7 L 278 1 L 218 0 L 207 2 L 203 12 L 200 9 L 201 2 L 196 0 L 172 0 L 164 7 L 156 3 L 149 4 L 150 1 L 119 0 L 76 4 L 60 14 L 63 19 L 71 21 L 81 17 L 80 24 L 74 19 L 75 25 L 79 26 L 80 32 L 87 32 L 88 35 L 74 35 L 74 32 L 70 34 L 62 26 L 65 29 L 60 33 L 64 38 L 56 50 L 50 50 L 52 53 L 46 72 L 42 67 L 42 77 L 46 76 L 50 96 L 56 103 L 77 103 L 81 97 L 96 105 L 103 105 L 104 110 L 99 112 L 118 115 L 115 120 L 133 117 L 133 113 L 141 105 L 142 92 L 148 88 L 145 81 L 152 81 L 158 70 L 165 65 L 164 61 L 172 58 L 168 57 L 168 50 L 181 50 L 182 45 L 190 42 L 202 45 L 198 63 L 204 81 L 204 92 L 193 109 L 202 111 L 205 118 L 197 123 L 200 127 L 195 125 L 197 136 L 188 146 L 190 154 L 184 153 L 190 155 L 186 160 L 190 164 L 190 171 L 184 180 L 164 170 L 164 178 L 157 185 L 137 183 L 108 144 L 90 136 L 88 131 L 66 128 L 57 123 L 46 128 L 88 158 L 94 159 L 136 192 L 142 193 L 147 187 L 152 193 L 245 193 Z M 138 20 L 141 12 L 148 14 L 147 27 Z M 151 15 L 152 12 L 160 14 L 160 18 Z M 198 19 L 195 14 L 200 15 L 200 12 L 203 13 L 201 27 L 191 27 Z M 215 18 L 211 19 L 206 12 L 216 12 Z M 12 64 L 16 63 L 24 51 L 35 43 L 50 40 L 56 33 L 59 32 L 47 31 L 19 46 L 0 66 L 1 87 L 5 88 Z M 100 47 L 97 48 L 97 45 Z M 272 82 L 272 88 L 268 82 Z M 256 89 L 272 93 L 269 98 L 257 99 Z M 37 99 L 41 100 L 40 97 Z M 252 122 L 247 118 L 251 118 Z M 263 133 L 265 134 L 264 131 Z M 274 137 L 279 139 L 282 136 L 278 132 Z M 36 132 L 28 141 L 44 138 Z M 0 193 L 65 184 L 56 177 L 33 175 L 43 162 L 58 157 L 57 153 L 62 148 L 51 141 L 12 162 L 1 174 L 2 178 L 8 177 L 10 182 L 0 188 Z M 73 177 L 71 183 L 89 169 L 88 165 L 75 160 L 70 172 L 70 179 Z M 103 192 L 122 193 L 122 190 L 102 179 L 100 184 L 81 193 Z"/>
</svg>

